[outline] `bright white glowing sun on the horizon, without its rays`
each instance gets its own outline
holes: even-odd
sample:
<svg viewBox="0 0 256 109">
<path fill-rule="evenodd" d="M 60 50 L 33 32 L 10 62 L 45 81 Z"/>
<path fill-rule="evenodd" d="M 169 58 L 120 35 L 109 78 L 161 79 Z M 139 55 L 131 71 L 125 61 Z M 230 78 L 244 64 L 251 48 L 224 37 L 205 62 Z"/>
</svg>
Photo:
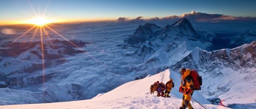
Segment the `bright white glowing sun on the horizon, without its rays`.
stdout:
<svg viewBox="0 0 256 109">
<path fill-rule="evenodd" d="M 37 26 L 44 26 L 44 25 L 46 25 L 48 23 L 52 23 L 52 22 L 54 22 L 54 20 L 50 20 L 50 19 L 47 19 L 44 17 L 36 17 L 34 19 L 25 21 L 25 23 L 34 24 Z"/>
</svg>

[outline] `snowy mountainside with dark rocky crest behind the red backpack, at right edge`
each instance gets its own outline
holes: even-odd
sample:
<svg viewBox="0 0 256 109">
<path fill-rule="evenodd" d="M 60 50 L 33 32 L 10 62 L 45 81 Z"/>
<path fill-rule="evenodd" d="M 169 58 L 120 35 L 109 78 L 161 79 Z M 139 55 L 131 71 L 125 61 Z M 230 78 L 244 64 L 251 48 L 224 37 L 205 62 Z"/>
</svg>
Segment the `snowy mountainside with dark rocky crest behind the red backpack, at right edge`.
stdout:
<svg viewBox="0 0 256 109">
<path fill-rule="evenodd" d="M 201 93 L 206 98 L 220 98 L 224 105 L 230 103 L 254 103 L 256 78 L 256 42 L 233 49 L 212 52 L 195 48 L 170 69 L 180 67 L 199 71 L 204 80 Z M 247 85 L 242 85 L 247 84 Z M 236 95 L 236 97 L 234 96 Z"/>
</svg>

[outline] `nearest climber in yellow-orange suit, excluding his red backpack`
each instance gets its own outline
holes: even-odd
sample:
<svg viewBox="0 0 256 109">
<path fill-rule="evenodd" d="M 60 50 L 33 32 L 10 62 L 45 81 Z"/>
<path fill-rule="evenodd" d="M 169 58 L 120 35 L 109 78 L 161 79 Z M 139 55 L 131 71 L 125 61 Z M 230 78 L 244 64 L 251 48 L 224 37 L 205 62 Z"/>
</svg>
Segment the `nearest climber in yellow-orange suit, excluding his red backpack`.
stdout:
<svg viewBox="0 0 256 109">
<path fill-rule="evenodd" d="M 181 73 L 181 84 L 180 84 L 179 91 L 183 93 L 182 104 L 180 109 L 186 109 L 186 107 L 188 107 L 189 109 L 194 109 L 191 103 L 189 103 L 189 101 L 191 100 L 191 96 L 193 94 L 193 88 L 194 88 L 192 77 L 189 75 L 190 69 L 182 68 L 180 70 L 180 73 Z"/>
</svg>

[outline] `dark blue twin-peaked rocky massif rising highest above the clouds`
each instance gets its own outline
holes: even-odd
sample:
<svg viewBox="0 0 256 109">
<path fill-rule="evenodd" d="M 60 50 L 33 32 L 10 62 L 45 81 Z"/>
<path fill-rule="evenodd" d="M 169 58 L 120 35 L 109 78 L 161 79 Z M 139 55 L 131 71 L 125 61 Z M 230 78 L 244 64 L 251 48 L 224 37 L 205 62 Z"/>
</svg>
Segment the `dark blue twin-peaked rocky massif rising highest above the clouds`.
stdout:
<svg viewBox="0 0 256 109">
<path fill-rule="evenodd" d="M 130 45 L 138 45 L 146 41 L 165 43 L 169 44 L 174 41 L 186 41 L 192 47 L 198 47 L 211 50 L 212 43 L 209 35 L 198 34 L 192 27 L 189 20 L 183 18 L 172 25 L 166 25 L 163 28 L 146 23 L 145 25 L 140 25 L 134 34 L 125 39 Z"/>
</svg>

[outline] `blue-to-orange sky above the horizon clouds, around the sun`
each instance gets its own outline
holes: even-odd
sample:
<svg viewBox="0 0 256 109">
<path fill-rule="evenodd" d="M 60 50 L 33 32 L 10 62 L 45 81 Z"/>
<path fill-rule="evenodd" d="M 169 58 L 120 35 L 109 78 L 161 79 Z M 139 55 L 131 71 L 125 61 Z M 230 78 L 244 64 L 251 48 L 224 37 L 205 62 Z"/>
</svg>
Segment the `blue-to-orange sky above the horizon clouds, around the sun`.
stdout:
<svg viewBox="0 0 256 109">
<path fill-rule="evenodd" d="M 55 21 L 166 17 L 192 10 L 208 14 L 256 17 L 256 0 L 0 0 L 0 25 L 35 17 L 30 4 L 41 15 L 47 7 L 44 17 Z"/>
</svg>

